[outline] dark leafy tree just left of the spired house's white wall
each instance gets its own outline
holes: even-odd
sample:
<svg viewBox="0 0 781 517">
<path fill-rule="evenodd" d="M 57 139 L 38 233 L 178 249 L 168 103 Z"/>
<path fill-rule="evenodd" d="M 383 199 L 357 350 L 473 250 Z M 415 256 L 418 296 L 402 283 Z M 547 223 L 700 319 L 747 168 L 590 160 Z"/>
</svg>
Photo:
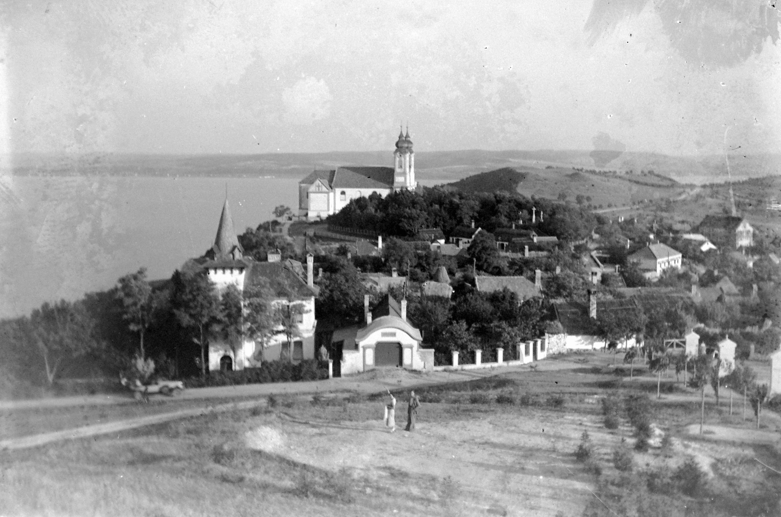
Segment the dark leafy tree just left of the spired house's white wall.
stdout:
<svg viewBox="0 0 781 517">
<path fill-rule="evenodd" d="M 198 331 L 193 342 L 201 348 L 201 377 L 206 376 L 209 331 L 219 319 L 219 295 L 205 273 L 173 275 L 173 312 L 181 326 Z"/>
</svg>

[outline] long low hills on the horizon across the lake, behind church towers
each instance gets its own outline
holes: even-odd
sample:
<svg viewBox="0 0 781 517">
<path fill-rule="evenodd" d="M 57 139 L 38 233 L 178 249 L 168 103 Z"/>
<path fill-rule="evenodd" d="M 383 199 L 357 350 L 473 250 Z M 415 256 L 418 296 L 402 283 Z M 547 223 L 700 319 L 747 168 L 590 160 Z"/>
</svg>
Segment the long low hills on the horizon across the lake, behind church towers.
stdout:
<svg viewBox="0 0 781 517">
<path fill-rule="evenodd" d="M 9 159 L 16 175 L 109 176 L 305 176 L 315 168 L 391 166 L 391 150 L 375 152 L 268 153 L 262 155 L 137 155 L 17 153 Z M 598 165 L 597 165 L 598 162 Z M 0 161 L 2 163 L 2 161 Z M 781 154 L 729 156 L 733 180 L 781 175 Z M 723 155 L 669 156 L 649 152 L 442 151 L 415 152 L 419 180 L 457 181 L 495 169 L 597 169 L 635 174 L 653 170 L 681 183 L 727 180 Z M 2 173 L 3 171 L 0 171 Z M 5 171 L 7 173 L 7 171 Z"/>
</svg>

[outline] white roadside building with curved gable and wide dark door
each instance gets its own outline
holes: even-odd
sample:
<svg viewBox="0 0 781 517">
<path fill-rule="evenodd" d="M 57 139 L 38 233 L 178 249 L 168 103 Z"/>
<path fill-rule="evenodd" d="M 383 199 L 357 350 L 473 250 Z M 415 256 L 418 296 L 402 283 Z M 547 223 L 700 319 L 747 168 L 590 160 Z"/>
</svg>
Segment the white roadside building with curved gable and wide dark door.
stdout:
<svg viewBox="0 0 781 517">
<path fill-rule="evenodd" d="M 423 337 L 407 320 L 407 301 L 386 294 L 369 310 L 364 298 L 364 321 L 330 334 L 328 348 L 333 375 L 344 376 L 383 366 L 433 370 L 433 349 L 420 348 Z"/>
</svg>

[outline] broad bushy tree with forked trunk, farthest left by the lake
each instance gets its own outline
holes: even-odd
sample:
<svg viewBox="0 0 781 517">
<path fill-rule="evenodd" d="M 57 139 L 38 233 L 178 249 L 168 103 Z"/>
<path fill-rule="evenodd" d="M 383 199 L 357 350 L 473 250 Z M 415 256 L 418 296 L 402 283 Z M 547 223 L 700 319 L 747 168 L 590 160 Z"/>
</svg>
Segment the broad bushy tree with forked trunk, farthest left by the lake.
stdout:
<svg viewBox="0 0 781 517">
<path fill-rule="evenodd" d="M 30 317 L 20 319 L 18 331 L 30 350 L 41 354 L 46 380 L 54 383 L 63 361 L 78 358 L 102 348 L 95 339 L 95 322 L 87 315 L 84 305 L 61 300 L 54 305 L 46 302 Z"/>
</svg>

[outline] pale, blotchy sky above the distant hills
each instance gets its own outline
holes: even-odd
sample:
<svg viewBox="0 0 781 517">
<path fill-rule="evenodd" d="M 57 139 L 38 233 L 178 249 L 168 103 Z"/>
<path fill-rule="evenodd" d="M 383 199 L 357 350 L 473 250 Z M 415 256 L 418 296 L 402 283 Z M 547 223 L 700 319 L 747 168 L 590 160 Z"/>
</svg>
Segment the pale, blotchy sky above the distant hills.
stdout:
<svg viewBox="0 0 781 517">
<path fill-rule="evenodd" d="M 416 151 L 781 152 L 768 0 L 6 0 L 0 13 L 5 154 L 375 151 L 400 123 Z"/>
</svg>

